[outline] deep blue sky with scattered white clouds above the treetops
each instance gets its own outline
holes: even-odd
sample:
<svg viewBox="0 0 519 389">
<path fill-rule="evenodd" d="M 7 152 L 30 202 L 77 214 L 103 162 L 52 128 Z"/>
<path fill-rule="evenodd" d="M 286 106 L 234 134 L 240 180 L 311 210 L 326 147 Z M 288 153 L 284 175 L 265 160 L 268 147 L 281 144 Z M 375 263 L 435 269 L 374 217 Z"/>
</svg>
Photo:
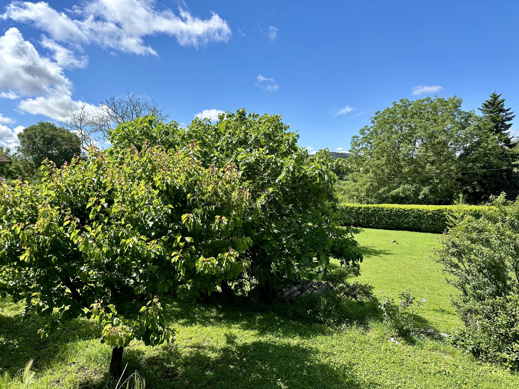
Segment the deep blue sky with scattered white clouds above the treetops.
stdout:
<svg viewBox="0 0 519 389">
<path fill-rule="evenodd" d="M 402 98 L 457 95 L 476 109 L 496 90 L 519 114 L 517 1 L 2 3 L 3 146 L 127 91 L 179 123 L 280 114 L 311 150 L 347 150 Z"/>
</svg>

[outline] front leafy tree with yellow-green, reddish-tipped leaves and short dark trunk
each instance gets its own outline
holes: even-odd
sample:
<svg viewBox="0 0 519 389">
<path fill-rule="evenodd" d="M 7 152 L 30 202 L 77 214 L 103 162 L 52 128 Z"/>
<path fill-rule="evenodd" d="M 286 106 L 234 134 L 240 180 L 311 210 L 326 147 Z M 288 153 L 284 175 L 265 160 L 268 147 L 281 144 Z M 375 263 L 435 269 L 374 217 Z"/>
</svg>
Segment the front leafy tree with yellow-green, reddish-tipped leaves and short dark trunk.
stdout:
<svg viewBox="0 0 519 389">
<path fill-rule="evenodd" d="M 235 166 L 204 167 L 192 144 L 92 152 L 43 183 L 0 185 L 0 296 L 23 301 L 22 316 L 86 316 L 113 346 L 170 342 L 161 295 L 211 293 L 249 265 L 242 220 L 250 195 Z"/>
</svg>

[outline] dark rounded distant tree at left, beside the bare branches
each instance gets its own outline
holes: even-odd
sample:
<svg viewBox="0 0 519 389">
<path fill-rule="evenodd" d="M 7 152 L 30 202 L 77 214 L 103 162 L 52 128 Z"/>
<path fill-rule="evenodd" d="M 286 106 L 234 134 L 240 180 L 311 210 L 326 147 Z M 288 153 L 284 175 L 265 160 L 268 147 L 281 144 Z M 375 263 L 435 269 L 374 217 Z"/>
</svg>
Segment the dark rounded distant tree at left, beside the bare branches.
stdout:
<svg viewBox="0 0 519 389">
<path fill-rule="evenodd" d="M 33 173 L 46 158 L 60 167 L 74 156 L 79 156 L 81 151 L 80 140 L 75 133 L 49 121 L 40 121 L 23 129 L 18 139 L 18 152 L 30 162 Z"/>
</svg>

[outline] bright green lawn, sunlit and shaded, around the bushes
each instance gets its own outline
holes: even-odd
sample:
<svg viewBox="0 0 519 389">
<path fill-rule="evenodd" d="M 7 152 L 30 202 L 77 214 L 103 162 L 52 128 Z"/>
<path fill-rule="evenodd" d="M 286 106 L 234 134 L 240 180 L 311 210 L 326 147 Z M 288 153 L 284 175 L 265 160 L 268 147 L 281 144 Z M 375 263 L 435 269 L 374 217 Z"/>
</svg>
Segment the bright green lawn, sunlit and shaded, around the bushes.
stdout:
<svg viewBox="0 0 519 389">
<path fill-rule="evenodd" d="M 358 240 L 365 254 L 362 282 L 393 296 L 412 289 L 428 299 L 421 314 L 432 325 L 448 330 L 457 324 L 449 304 L 453 291 L 428 258 L 435 235 L 366 229 Z M 222 298 L 166 306 L 180 329 L 177 341 L 156 348 L 135 341 L 124 354 L 128 369 L 142 371 L 150 389 L 519 387 L 519 375 L 478 363 L 448 342 L 388 342 L 391 332 L 373 307 L 353 309 L 357 324 L 337 328 L 294 319 L 282 307 L 257 312 Z M 16 373 L 34 358 L 37 373 L 49 373 L 53 387 L 115 386 L 106 372 L 111 350 L 95 339 L 97 326 L 77 320 L 40 339 L 42 322 L 19 322 L 19 310 L 0 300 L 0 368 Z"/>
</svg>

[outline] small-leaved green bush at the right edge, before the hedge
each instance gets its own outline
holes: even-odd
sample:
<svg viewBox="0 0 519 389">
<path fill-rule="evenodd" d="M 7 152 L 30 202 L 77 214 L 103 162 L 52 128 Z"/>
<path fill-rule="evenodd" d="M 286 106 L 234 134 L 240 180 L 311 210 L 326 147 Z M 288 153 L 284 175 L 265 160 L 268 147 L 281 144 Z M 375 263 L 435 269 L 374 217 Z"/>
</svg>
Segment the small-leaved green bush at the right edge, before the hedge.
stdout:
<svg viewBox="0 0 519 389">
<path fill-rule="evenodd" d="M 458 215 L 435 259 L 460 292 L 465 329 L 455 341 L 483 359 L 519 368 L 519 202 L 504 195 L 476 218 Z"/>
</svg>

